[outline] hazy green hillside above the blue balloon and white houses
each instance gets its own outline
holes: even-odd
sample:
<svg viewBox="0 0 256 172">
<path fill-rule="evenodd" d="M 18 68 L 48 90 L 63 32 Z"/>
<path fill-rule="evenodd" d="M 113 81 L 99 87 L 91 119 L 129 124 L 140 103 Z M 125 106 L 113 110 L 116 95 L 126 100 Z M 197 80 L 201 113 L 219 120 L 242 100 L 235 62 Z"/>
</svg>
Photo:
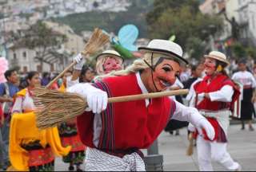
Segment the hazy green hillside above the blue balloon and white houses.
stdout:
<svg viewBox="0 0 256 172">
<path fill-rule="evenodd" d="M 131 6 L 125 12 L 92 11 L 81 14 L 70 14 L 64 18 L 51 18 L 53 22 L 70 25 L 75 33 L 93 30 L 95 27 L 107 32 L 118 33 L 122 25 L 134 24 L 140 31 L 139 37 L 147 37 L 146 13 L 152 9 L 154 0 L 130 0 Z"/>
</svg>

